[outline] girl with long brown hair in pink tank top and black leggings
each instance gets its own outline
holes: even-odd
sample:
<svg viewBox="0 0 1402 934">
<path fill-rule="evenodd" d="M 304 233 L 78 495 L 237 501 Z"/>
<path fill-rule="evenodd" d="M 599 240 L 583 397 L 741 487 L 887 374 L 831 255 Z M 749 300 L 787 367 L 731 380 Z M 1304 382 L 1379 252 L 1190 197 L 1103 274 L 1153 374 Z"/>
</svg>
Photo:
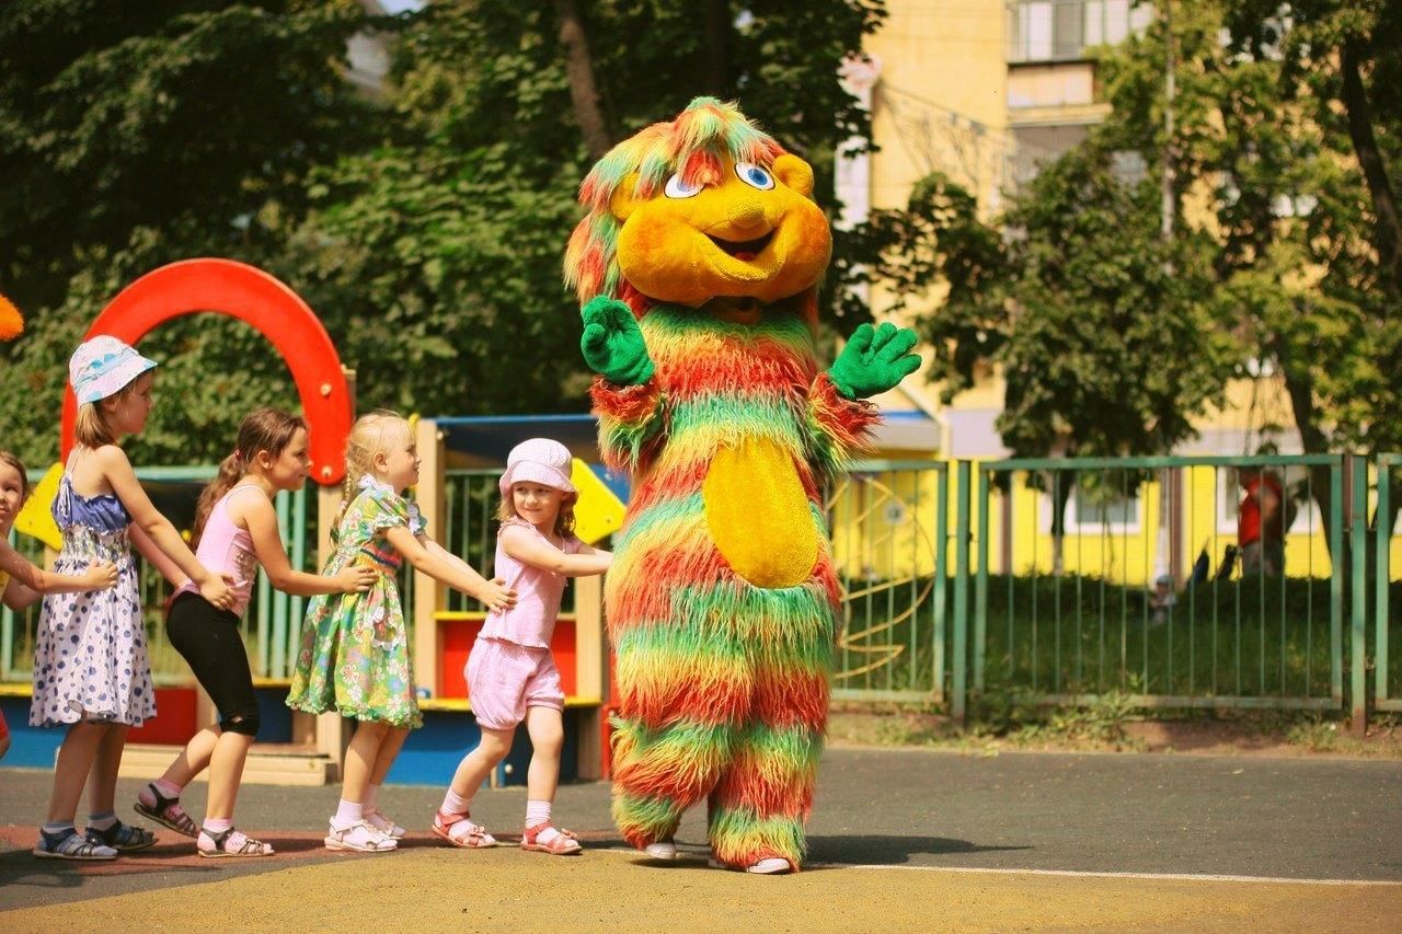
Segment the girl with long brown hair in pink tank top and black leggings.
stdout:
<svg viewBox="0 0 1402 934">
<path fill-rule="evenodd" d="M 278 530 L 272 498 L 307 482 L 307 424 L 275 408 L 259 408 L 238 425 L 234 453 L 219 466 L 195 509 L 195 557 L 234 582 L 233 609 L 222 610 L 188 581 L 178 583 L 165 630 L 219 710 L 219 724 L 195 733 L 165 774 L 142 790 L 136 812 L 186 837 L 202 857 L 272 855 L 272 847 L 234 829 L 234 801 L 248 747 L 258 735 L 254 693 L 240 618 L 248 609 L 261 564 L 285 593 L 315 596 L 369 590 L 380 576 L 360 565 L 334 575 L 294 571 Z M 209 801 L 199 827 L 179 805 L 181 791 L 209 767 Z"/>
</svg>

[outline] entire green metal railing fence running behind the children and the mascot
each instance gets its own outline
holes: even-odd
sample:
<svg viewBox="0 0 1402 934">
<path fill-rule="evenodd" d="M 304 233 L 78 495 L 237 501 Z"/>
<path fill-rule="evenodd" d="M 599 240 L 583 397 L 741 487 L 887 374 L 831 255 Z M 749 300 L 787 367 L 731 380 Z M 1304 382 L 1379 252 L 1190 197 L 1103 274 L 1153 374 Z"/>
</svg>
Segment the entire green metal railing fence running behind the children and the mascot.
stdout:
<svg viewBox="0 0 1402 934">
<path fill-rule="evenodd" d="M 1373 463 L 1374 484 L 1366 459 L 1343 456 L 852 464 L 824 503 L 843 588 L 833 696 L 945 703 L 956 718 L 979 691 L 1060 704 L 1115 691 L 1147 707 L 1347 705 L 1356 715 L 1371 694 L 1374 708 L 1399 711 L 1402 623 L 1391 589 L 1402 572 L 1391 558 L 1392 529 L 1377 523 L 1375 564 L 1330 557 L 1368 548 L 1370 489 L 1377 515 L 1391 513 L 1387 481 L 1402 470 L 1402 454 Z M 1258 574 L 1225 553 L 1237 543 L 1244 488 L 1267 473 L 1286 505 L 1283 541 L 1279 572 Z M 177 524 L 212 474 L 139 471 Z M 498 475 L 449 471 L 433 530 L 484 571 L 495 553 Z M 315 572 L 314 499 L 280 494 L 276 509 L 293 567 Z M 11 541 L 42 561 L 32 539 Z M 1169 583 L 1157 585 L 1161 575 Z M 404 571 L 405 606 L 414 576 Z M 143 567 L 153 670 L 163 683 L 188 677 L 165 641 L 167 596 Z M 304 603 L 259 576 L 244 620 L 259 677 L 290 676 Z M 456 592 L 447 607 L 481 609 Z M 38 606 L 0 609 L 3 680 L 29 677 L 38 617 Z"/>
</svg>

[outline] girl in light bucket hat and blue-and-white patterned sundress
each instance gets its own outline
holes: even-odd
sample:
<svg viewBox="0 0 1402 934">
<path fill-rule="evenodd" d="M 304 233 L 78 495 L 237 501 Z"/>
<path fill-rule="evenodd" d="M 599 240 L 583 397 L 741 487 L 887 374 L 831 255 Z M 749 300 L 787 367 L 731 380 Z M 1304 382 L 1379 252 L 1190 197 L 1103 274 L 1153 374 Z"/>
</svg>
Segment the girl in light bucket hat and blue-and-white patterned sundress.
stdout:
<svg viewBox="0 0 1402 934">
<path fill-rule="evenodd" d="M 151 411 L 153 360 L 114 337 L 95 337 L 74 351 L 69 379 L 77 398 L 76 445 L 69 454 L 53 517 L 63 532 L 55 568 L 79 572 L 97 561 L 116 565 L 111 590 L 46 596 L 35 632 L 29 725 L 67 726 L 53 770 L 53 795 L 34 854 L 59 860 L 112 860 L 156 843 L 150 830 L 116 819 L 114 795 L 122 747 L 132 726 L 156 715 L 146 654 L 136 565 L 129 534 L 153 561 L 161 553 L 215 606 L 234 595 L 156 510 L 118 446 L 136 435 Z M 130 529 L 130 532 L 129 532 Z M 87 834 L 73 826 L 88 783 Z"/>
</svg>

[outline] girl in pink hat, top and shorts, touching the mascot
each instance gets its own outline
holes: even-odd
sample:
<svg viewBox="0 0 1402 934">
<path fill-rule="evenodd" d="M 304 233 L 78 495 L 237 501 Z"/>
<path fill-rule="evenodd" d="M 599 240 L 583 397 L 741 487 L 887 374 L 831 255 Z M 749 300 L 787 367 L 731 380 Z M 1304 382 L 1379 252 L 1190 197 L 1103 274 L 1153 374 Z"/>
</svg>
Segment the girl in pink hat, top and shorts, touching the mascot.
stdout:
<svg viewBox="0 0 1402 934">
<path fill-rule="evenodd" d="M 565 693 L 550 654 L 565 578 L 603 574 L 613 555 L 575 537 L 571 456 L 564 445 L 533 438 L 512 449 L 499 488 L 496 576 L 517 593 L 513 607 L 492 610 L 467 661 L 467 687 L 482 731 L 477 749 L 457 767 L 435 836 L 456 847 L 488 847 L 496 840 L 468 816 L 472 794 L 512 749 L 524 721 L 531 760 L 526 780 L 526 833 L 522 848 L 566 855 L 579 840 L 551 826 L 564 746 Z"/>
</svg>

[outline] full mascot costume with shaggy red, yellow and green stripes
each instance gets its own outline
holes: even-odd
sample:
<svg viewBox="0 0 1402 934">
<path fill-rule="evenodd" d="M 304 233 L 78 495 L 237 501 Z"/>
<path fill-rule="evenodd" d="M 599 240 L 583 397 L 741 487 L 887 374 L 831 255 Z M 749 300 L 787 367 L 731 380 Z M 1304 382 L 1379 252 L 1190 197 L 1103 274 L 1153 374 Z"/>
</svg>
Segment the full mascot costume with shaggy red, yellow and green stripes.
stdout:
<svg viewBox="0 0 1402 934">
<path fill-rule="evenodd" d="M 614 820 L 659 860 L 708 798 L 716 862 L 798 869 L 838 602 L 820 489 L 878 419 L 862 400 L 918 366 L 883 324 L 819 370 L 812 194 L 808 163 L 712 98 L 580 188 L 565 278 L 604 461 L 634 478 L 604 595 Z"/>
</svg>

